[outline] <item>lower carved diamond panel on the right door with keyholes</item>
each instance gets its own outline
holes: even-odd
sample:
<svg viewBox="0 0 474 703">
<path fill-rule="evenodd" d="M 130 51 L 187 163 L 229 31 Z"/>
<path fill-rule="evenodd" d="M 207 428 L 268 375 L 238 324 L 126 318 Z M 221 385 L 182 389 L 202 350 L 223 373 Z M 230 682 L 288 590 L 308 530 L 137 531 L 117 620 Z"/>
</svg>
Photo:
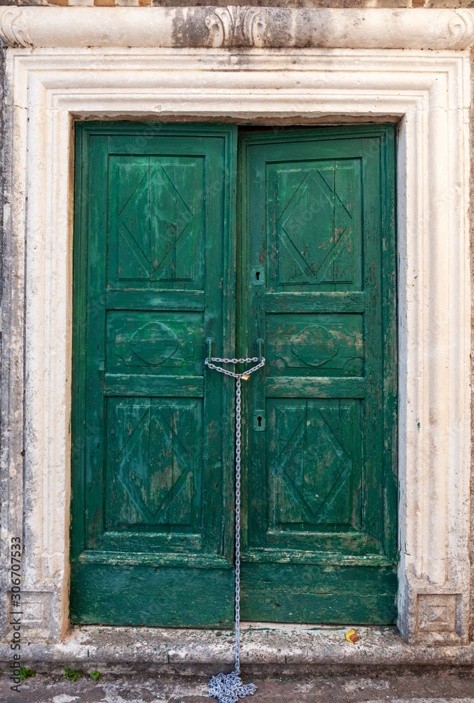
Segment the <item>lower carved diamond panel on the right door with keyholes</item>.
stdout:
<svg viewBox="0 0 474 703">
<path fill-rule="evenodd" d="M 269 401 L 271 522 L 350 526 L 360 465 L 359 404 Z"/>
</svg>

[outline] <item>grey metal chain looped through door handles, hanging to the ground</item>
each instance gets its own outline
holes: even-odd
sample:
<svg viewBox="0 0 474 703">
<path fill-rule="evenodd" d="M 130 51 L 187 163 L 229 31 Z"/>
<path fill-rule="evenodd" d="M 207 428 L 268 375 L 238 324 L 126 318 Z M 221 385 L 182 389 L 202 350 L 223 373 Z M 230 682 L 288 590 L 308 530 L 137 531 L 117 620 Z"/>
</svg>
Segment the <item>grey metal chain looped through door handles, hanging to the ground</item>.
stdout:
<svg viewBox="0 0 474 703">
<path fill-rule="evenodd" d="M 226 368 L 214 366 L 211 361 L 220 363 L 250 363 L 258 361 L 243 373 L 233 373 Z M 264 356 L 252 356 L 251 359 L 219 359 L 209 356 L 205 365 L 219 373 L 225 373 L 236 379 L 236 664 L 232 673 L 218 673 L 209 682 L 209 695 L 217 698 L 219 703 L 236 703 L 239 698 L 253 695 L 257 690 L 255 683 L 243 684 L 241 673 L 241 380 L 248 380 L 250 374 L 262 368 Z"/>
</svg>

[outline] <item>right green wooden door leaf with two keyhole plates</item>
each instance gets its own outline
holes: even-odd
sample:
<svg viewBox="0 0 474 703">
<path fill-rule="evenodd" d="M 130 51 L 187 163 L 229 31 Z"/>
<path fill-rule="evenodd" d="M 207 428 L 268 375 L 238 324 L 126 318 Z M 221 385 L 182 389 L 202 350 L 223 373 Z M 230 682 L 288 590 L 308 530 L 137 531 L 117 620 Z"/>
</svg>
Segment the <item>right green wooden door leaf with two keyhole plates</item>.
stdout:
<svg viewBox="0 0 474 703">
<path fill-rule="evenodd" d="M 394 131 L 240 141 L 242 617 L 396 619 Z M 258 430 L 258 431 L 255 431 Z"/>
</svg>

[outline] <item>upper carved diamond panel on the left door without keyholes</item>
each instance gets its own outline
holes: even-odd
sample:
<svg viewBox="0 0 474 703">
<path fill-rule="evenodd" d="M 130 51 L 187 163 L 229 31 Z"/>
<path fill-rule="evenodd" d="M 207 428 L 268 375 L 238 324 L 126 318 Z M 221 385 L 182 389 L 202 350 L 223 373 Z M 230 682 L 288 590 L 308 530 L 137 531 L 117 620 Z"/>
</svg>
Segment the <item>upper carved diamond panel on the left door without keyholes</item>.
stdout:
<svg viewBox="0 0 474 703">
<path fill-rule="evenodd" d="M 115 157 L 109 280 L 202 288 L 203 165 L 189 157 Z"/>
</svg>

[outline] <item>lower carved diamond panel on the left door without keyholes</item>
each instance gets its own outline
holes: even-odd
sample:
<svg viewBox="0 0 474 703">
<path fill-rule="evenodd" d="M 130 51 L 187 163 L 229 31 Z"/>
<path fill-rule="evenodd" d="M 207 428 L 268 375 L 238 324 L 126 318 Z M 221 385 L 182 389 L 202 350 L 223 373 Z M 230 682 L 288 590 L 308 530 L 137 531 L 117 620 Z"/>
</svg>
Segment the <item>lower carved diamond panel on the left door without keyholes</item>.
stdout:
<svg viewBox="0 0 474 703">
<path fill-rule="evenodd" d="M 201 401 L 108 399 L 109 529 L 198 526 Z"/>
</svg>

